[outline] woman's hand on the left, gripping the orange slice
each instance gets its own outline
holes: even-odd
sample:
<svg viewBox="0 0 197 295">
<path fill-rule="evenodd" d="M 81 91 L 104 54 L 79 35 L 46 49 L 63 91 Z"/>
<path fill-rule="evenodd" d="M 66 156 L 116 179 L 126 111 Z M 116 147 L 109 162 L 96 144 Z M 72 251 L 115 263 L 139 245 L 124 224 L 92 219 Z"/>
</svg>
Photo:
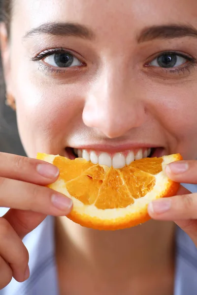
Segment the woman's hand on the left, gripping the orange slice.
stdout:
<svg viewBox="0 0 197 295">
<path fill-rule="evenodd" d="M 70 212 L 71 200 L 45 187 L 58 175 L 52 164 L 0 153 L 0 207 L 10 208 L 0 218 L 0 289 L 12 277 L 22 282 L 30 275 L 29 255 L 21 239 L 47 215 Z"/>
</svg>

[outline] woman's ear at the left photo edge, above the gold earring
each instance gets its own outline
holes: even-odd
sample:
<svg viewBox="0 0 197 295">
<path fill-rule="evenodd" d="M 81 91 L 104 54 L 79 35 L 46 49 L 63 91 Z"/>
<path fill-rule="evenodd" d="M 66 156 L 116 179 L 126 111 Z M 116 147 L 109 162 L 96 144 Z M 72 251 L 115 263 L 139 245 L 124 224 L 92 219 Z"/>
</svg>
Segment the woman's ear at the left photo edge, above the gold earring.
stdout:
<svg viewBox="0 0 197 295">
<path fill-rule="evenodd" d="M 3 73 L 6 91 L 11 91 L 11 66 L 10 66 L 10 46 L 7 29 L 4 23 L 0 23 L 0 54 L 2 58 Z"/>
</svg>

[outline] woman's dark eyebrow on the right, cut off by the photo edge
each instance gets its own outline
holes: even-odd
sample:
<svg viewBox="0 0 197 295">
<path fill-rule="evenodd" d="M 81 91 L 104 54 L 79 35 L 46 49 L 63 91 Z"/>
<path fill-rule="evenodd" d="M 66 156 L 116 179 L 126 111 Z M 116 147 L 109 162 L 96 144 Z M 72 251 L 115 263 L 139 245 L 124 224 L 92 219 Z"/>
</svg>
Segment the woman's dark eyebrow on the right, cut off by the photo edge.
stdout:
<svg viewBox="0 0 197 295">
<path fill-rule="evenodd" d="M 137 37 L 138 43 L 154 39 L 173 39 L 181 37 L 197 38 L 197 29 L 189 25 L 153 26 L 142 30 Z"/>
</svg>

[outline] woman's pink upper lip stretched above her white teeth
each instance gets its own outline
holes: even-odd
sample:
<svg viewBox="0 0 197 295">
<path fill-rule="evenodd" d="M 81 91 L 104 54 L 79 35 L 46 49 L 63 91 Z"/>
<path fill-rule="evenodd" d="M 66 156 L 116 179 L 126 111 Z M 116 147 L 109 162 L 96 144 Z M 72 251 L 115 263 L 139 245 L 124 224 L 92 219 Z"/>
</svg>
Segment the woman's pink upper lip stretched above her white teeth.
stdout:
<svg viewBox="0 0 197 295">
<path fill-rule="evenodd" d="M 131 144 L 89 144 L 89 145 L 80 145 L 80 146 L 72 146 L 72 148 L 77 149 L 89 149 L 89 150 L 100 150 L 100 151 L 126 151 L 126 150 L 133 150 L 133 149 L 140 149 L 140 148 L 158 148 L 161 145 L 154 145 L 148 143 L 131 143 Z"/>
</svg>

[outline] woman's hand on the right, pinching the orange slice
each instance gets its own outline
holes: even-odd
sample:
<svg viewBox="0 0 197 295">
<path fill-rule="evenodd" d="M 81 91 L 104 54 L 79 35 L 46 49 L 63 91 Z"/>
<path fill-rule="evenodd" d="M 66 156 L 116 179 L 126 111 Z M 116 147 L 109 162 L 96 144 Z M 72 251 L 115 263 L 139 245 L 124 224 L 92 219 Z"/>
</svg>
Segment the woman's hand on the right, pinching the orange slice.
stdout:
<svg viewBox="0 0 197 295">
<path fill-rule="evenodd" d="M 174 181 L 197 184 L 196 160 L 170 163 L 165 172 Z M 148 213 L 153 219 L 174 221 L 197 247 L 197 193 L 181 186 L 176 196 L 150 203 Z"/>
</svg>

